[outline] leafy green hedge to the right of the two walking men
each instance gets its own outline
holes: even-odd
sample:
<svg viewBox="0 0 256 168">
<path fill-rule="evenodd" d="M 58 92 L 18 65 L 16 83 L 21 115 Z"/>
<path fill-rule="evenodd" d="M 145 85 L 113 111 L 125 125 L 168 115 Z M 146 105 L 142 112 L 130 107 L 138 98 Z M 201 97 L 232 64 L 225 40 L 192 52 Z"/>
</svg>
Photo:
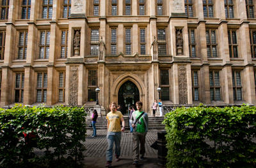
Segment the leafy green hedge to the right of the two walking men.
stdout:
<svg viewBox="0 0 256 168">
<path fill-rule="evenodd" d="M 256 167 L 256 108 L 177 108 L 166 114 L 167 167 Z"/>
</svg>

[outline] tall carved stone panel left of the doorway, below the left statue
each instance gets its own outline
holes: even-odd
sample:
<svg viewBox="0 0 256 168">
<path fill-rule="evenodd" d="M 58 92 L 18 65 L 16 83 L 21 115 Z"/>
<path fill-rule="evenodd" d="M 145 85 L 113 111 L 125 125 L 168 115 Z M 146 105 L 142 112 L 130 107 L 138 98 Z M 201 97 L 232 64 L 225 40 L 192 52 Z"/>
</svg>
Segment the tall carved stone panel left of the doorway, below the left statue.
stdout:
<svg viewBox="0 0 256 168">
<path fill-rule="evenodd" d="M 78 66 L 71 66 L 70 69 L 69 104 L 74 106 L 78 103 Z"/>
</svg>

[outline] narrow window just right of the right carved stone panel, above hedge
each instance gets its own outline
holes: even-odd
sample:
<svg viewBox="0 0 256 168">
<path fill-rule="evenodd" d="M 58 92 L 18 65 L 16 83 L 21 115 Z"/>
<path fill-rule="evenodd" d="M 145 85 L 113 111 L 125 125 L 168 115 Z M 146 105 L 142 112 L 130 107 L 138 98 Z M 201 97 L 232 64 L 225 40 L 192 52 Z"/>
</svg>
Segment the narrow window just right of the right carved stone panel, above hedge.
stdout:
<svg viewBox="0 0 256 168">
<path fill-rule="evenodd" d="M 199 73 L 200 73 L 200 70 L 191 69 L 193 101 L 200 101 L 200 76 L 199 76 Z M 195 74 L 196 74 L 196 85 L 195 85 Z M 195 90 L 197 90 L 196 96 L 195 96 Z M 197 97 L 197 99 L 195 97 Z"/>
</svg>

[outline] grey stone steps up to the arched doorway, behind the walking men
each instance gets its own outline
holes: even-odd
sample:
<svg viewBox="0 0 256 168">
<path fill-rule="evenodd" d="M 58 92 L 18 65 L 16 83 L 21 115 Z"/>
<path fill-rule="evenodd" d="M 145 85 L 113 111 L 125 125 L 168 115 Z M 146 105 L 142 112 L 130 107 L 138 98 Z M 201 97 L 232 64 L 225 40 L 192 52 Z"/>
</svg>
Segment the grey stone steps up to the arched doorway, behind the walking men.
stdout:
<svg viewBox="0 0 256 168">
<path fill-rule="evenodd" d="M 125 120 L 125 130 L 129 130 L 129 118 L 128 116 L 124 116 Z M 164 120 L 163 116 L 148 116 L 148 129 L 149 130 L 164 130 L 164 125 L 162 124 Z M 91 127 L 89 127 L 91 120 L 86 121 L 86 129 L 87 130 L 92 130 Z M 96 123 L 96 128 L 97 130 L 107 130 L 107 124 L 108 121 L 106 119 L 106 116 L 98 117 L 97 118 L 97 123 Z"/>
</svg>

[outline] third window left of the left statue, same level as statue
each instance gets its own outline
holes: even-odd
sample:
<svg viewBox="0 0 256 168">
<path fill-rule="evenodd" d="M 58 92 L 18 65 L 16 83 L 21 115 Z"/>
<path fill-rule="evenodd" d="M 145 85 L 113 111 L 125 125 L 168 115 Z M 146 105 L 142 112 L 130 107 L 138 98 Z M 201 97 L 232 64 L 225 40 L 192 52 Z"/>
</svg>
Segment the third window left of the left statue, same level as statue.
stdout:
<svg viewBox="0 0 256 168">
<path fill-rule="evenodd" d="M 20 37 L 19 37 L 18 59 L 26 59 L 26 57 L 27 57 L 27 44 L 28 44 L 28 32 L 27 31 L 22 31 L 22 32 L 20 32 Z"/>
</svg>

